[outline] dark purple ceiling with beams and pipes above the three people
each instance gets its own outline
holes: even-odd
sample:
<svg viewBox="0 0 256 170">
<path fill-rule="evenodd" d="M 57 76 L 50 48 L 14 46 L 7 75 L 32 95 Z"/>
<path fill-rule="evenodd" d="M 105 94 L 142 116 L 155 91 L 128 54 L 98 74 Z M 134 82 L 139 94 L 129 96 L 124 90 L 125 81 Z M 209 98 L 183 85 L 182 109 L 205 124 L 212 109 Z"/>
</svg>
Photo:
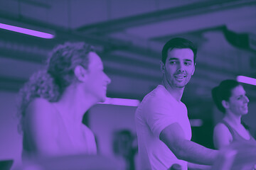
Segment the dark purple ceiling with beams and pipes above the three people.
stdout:
<svg viewBox="0 0 256 170">
<path fill-rule="evenodd" d="M 170 38 L 196 42 L 187 106 L 212 104 L 223 79 L 256 75 L 256 0 L 0 0 L 0 23 L 53 33 L 35 38 L 0 29 L 0 89 L 17 91 L 65 41 L 95 45 L 112 79 L 108 96 L 138 98 L 161 82 L 161 48 Z M 255 77 L 256 78 L 256 77 Z M 246 86 L 256 101 L 254 86 Z M 195 111 L 196 112 L 196 111 Z M 196 114 L 196 113 L 195 113 Z"/>
</svg>

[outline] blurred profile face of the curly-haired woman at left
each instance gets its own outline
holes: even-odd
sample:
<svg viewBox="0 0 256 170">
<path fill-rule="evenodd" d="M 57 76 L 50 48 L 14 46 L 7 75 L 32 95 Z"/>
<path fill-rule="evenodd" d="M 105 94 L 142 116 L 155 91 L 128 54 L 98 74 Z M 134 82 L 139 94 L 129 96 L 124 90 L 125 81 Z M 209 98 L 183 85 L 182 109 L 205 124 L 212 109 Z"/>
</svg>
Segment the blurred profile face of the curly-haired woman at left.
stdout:
<svg viewBox="0 0 256 170">
<path fill-rule="evenodd" d="M 107 84 L 110 84 L 111 80 L 103 71 L 102 60 L 95 52 L 89 53 L 89 61 L 85 90 L 93 98 L 97 98 L 98 102 L 103 102 L 106 98 Z"/>
</svg>

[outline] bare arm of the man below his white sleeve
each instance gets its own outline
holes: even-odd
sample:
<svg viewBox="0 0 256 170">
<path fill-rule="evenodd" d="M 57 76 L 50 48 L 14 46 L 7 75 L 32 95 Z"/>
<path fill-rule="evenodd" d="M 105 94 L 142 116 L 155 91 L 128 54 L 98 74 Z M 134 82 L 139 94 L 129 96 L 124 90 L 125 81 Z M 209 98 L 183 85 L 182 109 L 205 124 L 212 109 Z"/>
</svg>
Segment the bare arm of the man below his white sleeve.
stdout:
<svg viewBox="0 0 256 170">
<path fill-rule="evenodd" d="M 173 123 L 161 131 L 163 141 L 178 159 L 195 164 L 212 165 L 218 151 L 208 149 L 195 142 L 186 140 L 185 134 L 178 123 Z"/>
</svg>

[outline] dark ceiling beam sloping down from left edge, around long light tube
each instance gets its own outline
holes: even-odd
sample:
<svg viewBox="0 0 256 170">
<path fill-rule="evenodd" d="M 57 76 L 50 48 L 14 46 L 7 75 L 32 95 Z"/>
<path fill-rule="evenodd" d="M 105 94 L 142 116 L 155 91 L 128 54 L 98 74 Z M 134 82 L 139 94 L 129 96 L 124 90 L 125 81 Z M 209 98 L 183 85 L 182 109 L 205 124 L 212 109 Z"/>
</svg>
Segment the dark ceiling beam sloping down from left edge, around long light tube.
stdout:
<svg viewBox="0 0 256 170">
<path fill-rule="evenodd" d="M 87 35 L 75 30 L 68 30 L 65 28 L 60 28 L 57 26 L 52 26 L 47 23 L 42 23 L 40 21 L 35 21 L 29 18 L 17 18 L 16 16 L 6 15 L 0 13 L 0 23 L 16 23 L 16 26 L 36 26 L 37 28 L 47 28 L 48 30 L 53 30 L 55 32 L 55 38 L 46 40 L 42 38 L 35 38 L 30 35 L 23 35 L 21 33 L 14 33 L 9 30 L 0 29 L 1 40 L 31 43 L 33 45 L 39 45 L 42 47 L 53 48 L 55 45 L 66 42 L 66 41 L 84 41 L 95 47 L 100 47 L 102 50 L 108 50 L 111 52 L 113 50 L 123 50 L 129 52 L 135 52 L 139 55 L 146 55 L 147 57 L 156 58 L 159 56 L 159 51 L 151 49 L 147 46 L 135 45 L 132 41 L 127 40 L 117 40 L 115 38 L 107 38 L 97 35 Z M 144 42 L 146 43 L 146 42 Z"/>
</svg>

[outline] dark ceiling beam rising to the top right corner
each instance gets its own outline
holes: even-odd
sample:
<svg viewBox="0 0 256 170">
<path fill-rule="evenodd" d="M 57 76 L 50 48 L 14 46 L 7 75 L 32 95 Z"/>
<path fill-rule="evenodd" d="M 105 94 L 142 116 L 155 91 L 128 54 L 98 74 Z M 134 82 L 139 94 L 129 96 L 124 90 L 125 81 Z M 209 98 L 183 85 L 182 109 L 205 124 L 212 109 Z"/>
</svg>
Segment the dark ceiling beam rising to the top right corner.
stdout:
<svg viewBox="0 0 256 170">
<path fill-rule="evenodd" d="M 91 25 L 81 26 L 77 28 L 82 33 L 112 33 L 126 28 L 142 26 L 149 23 L 156 23 L 160 21 L 169 21 L 176 18 L 196 16 L 205 13 L 211 13 L 230 8 L 238 8 L 241 6 L 255 5 L 255 0 L 217 0 L 217 1 L 201 1 L 198 3 L 168 8 L 161 11 L 154 11 L 143 13 L 137 16 L 128 16 L 125 18 L 118 18 L 111 21 L 104 21 L 94 23 Z"/>
</svg>

